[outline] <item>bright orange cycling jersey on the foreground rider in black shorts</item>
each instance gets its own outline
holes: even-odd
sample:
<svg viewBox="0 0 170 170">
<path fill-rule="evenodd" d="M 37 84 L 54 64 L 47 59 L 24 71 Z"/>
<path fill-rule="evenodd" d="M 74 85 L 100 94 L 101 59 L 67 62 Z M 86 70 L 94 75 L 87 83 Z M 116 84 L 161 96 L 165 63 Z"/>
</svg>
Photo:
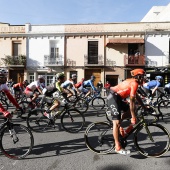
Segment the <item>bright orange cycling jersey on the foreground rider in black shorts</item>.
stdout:
<svg viewBox="0 0 170 170">
<path fill-rule="evenodd" d="M 138 89 L 138 83 L 135 79 L 126 79 L 117 86 L 111 87 L 110 90 L 116 92 L 122 99 L 127 97 L 135 97 Z"/>
</svg>

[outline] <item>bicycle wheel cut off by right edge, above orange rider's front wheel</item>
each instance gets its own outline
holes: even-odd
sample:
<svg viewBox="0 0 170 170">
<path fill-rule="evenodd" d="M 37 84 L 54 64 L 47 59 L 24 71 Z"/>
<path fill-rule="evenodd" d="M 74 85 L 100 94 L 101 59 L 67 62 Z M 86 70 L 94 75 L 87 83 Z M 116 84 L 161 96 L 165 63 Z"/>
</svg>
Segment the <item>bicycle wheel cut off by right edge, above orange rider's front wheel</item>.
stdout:
<svg viewBox="0 0 170 170">
<path fill-rule="evenodd" d="M 162 116 L 169 115 L 170 114 L 170 101 L 169 100 L 162 100 L 158 104 L 158 111 Z"/>
</svg>

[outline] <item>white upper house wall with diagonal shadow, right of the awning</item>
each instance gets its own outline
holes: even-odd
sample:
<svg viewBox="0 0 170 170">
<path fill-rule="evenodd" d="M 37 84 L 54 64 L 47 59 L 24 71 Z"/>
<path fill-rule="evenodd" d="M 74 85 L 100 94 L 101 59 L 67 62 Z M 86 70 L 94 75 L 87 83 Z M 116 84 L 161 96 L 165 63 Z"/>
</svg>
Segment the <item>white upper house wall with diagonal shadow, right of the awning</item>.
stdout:
<svg viewBox="0 0 170 170">
<path fill-rule="evenodd" d="M 146 36 L 145 54 L 149 61 L 153 61 L 153 63 L 150 63 L 150 66 L 164 67 L 168 65 L 169 39 L 168 35 Z"/>
</svg>

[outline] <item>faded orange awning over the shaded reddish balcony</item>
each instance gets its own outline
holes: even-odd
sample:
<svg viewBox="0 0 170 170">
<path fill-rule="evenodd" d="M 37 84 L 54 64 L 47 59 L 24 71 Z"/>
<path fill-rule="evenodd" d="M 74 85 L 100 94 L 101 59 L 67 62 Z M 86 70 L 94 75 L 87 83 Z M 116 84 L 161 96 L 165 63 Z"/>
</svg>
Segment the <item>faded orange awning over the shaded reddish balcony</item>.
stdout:
<svg viewBox="0 0 170 170">
<path fill-rule="evenodd" d="M 108 43 L 118 44 L 118 43 L 144 43 L 143 38 L 112 38 L 108 40 Z"/>
</svg>

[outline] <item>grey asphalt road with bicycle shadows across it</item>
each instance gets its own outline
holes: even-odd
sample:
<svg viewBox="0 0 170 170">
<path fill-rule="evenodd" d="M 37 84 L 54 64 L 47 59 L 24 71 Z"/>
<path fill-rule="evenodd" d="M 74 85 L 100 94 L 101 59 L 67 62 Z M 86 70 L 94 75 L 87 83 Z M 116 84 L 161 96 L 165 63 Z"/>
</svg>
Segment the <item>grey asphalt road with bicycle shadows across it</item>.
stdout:
<svg viewBox="0 0 170 170">
<path fill-rule="evenodd" d="M 86 127 L 94 121 L 105 121 L 104 111 L 97 112 L 92 108 L 85 114 Z M 170 131 L 170 117 L 164 122 Z M 20 122 L 19 119 L 14 121 Z M 57 121 L 60 125 L 60 121 Z M 25 124 L 23 122 L 23 124 Z M 26 125 L 26 124 L 25 124 Z M 48 133 L 34 133 L 34 148 L 23 160 L 11 160 L 0 154 L 0 170 L 168 170 L 170 151 L 160 158 L 146 158 L 128 141 L 129 156 L 116 154 L 97 155 L 90 151 L 84 142 L 85 128 L 76 134 L 70 134 L 56 128 Z"/>
</svg>

